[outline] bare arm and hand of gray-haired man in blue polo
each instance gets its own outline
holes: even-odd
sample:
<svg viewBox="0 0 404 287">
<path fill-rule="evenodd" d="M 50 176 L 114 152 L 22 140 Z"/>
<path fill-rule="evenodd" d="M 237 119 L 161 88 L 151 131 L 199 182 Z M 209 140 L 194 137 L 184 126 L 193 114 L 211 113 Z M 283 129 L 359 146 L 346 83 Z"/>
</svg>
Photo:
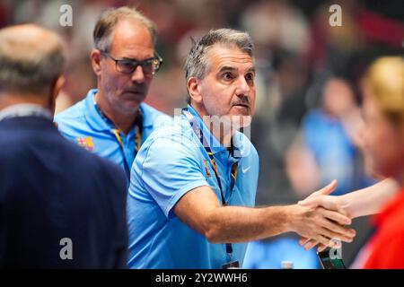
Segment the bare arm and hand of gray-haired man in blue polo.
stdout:
<svg viewBox="0 0 404 287">
<path fill-rule="evenodd" d="M 287 231 L 328 245 L 329 239 L 352 240 L 352 230 L 342 226 L 350 219 L 324 208 L 300 204 L 250 208 L 221 206 L 210 187 L 197 187 L 174 206 L 180 221 L 212 243 L 264 239 Z"/>
</svg>

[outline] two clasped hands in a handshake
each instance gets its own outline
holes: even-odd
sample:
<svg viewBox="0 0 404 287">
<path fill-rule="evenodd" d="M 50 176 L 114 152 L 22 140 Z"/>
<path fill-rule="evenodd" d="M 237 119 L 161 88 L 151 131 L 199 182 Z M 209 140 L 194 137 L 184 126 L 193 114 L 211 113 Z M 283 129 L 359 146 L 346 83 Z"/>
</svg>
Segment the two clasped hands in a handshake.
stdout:
<svg viewBox="0 0 404 287">
<path fill-rule="evenodd" d="M 290 230 L 302 236 L 299 243 L 306 250 L 316 245 L 319 252 L 328 247 L 339 248 L 338 242 L 352 242 L 356 236 L 355 230 L 346 227 L 352 223 L 347 203 L 341 196 L 329 196 L 335 187 L 337 180 L 290 205 Z"/>
</svg>

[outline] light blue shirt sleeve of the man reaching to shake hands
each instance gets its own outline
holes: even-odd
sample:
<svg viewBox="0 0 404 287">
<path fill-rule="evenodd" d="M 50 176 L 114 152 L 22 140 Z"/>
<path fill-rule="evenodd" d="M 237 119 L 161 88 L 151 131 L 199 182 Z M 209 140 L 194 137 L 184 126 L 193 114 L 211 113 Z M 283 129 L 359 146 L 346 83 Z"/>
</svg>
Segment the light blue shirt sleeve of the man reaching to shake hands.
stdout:
<svg viewBox="0 0 404 287">
<path fill-rule="evenodd" d="M 190 140 L 158 138 L 145 155 L 141 182 L 167 218 L 174 216 L 172 207 L 189 190 L 209 186 L 198 162 L 199 152 Z"/>
</svg>

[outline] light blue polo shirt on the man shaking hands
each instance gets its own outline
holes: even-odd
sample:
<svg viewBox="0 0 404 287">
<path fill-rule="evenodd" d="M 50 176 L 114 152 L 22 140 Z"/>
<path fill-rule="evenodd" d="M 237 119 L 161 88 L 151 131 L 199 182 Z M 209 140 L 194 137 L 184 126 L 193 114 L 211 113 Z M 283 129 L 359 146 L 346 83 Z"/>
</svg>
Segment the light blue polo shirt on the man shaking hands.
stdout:
<svg viewBox="0 0 404 287">
<path fill-rule="evenodd" d="M 197 118 L 214 153 L 216 166 L 230 205 L 254 206 L 259 176 L 259 156 L 240 132 L 233 157 Z M 234 152 L 235 154 L 236 152 Z M 237 179 L 230 192 L 230 169 L 239 161 Z M 130 268 L 221 268 L 228 262 L 225 244 L 209 243 L 175 216 L 172 207 L 189 190 L 209 186 L 221 203 L 215 171 L 187 117 L 176 117 L 171 126 L 156 130 L 140 148 L 132 166 L 127 196 Z M 233 244 L 233 259 L 242 260 L 247 243 Z"/>
</svg>

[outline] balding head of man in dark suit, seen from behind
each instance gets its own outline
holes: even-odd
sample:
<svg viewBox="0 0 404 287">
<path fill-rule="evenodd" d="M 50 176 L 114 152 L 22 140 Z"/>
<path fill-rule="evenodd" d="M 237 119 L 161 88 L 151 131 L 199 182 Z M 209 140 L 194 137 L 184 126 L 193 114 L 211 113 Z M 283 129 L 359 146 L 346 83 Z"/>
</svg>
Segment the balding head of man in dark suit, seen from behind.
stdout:
<svg viewBox="0 0 404 287">
<path fill-rule="evenodd" d="M 0 103 L 36 102 L 54 111 L 65 52 L 56 33 L 32 24 L 0 30 Z"/>
</svg>

